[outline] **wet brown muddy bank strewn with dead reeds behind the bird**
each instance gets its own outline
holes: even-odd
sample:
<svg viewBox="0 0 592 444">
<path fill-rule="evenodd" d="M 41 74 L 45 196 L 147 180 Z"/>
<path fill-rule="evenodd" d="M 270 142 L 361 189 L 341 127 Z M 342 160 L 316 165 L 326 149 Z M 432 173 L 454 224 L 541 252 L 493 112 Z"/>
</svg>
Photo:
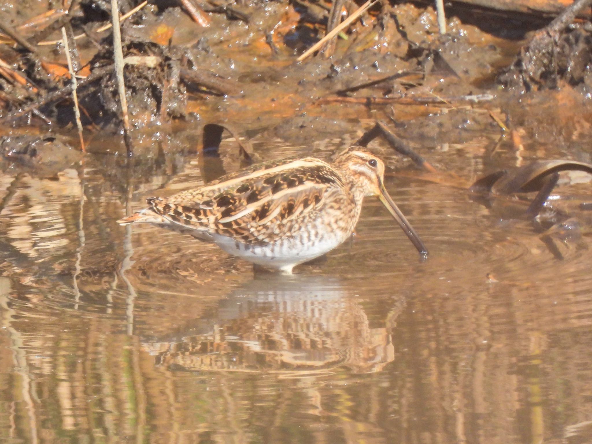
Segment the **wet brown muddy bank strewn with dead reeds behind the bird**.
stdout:
<svg viewBox="0 0 592 444">
<path fill-rule="evenodd" d="M 206 123 L 231 123 L 247 139 L 311 143 L 347 128 L 363 131 L 364 120 L 378 115 L 401 137 L 439 145 L 498 131 L 488 117 L 493 110 L 508 127 L 567 145 L 590 132 L 591 37 L 585 18 L 557 24 L 548 11 L 527 15 L 454 4 L 446 8 L 446 33 L 440 34 L 429 5 L 374 5 L 298 62 L 339 24 L 337 9 L 337 17 L 345 17 L 360 5 L 207 5 L 190 11 L 175 2 L 120 2 L 123 17 L 132 12 L 121 28 L 137 155 L 153 155 L 147 139 L 174 139 L 175 128 L 199 132 Z M 3 132 L 34 126 L 73 136 L 63 26 L 72 37 L 69 55 L 79 76 L 82 136 L 90 152 L 103 152 L 95 141 L 122 127 L 111 31 L 104 30 L 107 4 L 74 1 L 67 9 L 47 9 L 37 2 L 4 2 L 0 9 L 9 28 L 29 42 L 2 37 Z M 550 40 L 540 43 L 548 29 Z M 551 124 L 549 110 L 540 111 L 549 100 L 560 110 L 550 110 L 557 115 Z M 117 144 L 110 148 L 123 151 Z"/>
</svg>

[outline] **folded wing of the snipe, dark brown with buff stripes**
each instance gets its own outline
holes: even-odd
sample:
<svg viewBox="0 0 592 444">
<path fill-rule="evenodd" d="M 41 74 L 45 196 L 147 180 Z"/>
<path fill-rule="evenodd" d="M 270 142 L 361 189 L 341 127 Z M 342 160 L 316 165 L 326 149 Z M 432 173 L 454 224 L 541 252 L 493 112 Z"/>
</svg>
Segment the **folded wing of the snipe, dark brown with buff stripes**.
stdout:
<svg viewBox="0 0 592 444">
<path fill-rule="evenodd" d="M 343 188 L 322 160 L 266 163 L 166 199 L 149 199 L 155 213 L 172 223 L 257 244 L 286 236 L 304 217 L 316 217 L 327 192 Z"/>
</svg>

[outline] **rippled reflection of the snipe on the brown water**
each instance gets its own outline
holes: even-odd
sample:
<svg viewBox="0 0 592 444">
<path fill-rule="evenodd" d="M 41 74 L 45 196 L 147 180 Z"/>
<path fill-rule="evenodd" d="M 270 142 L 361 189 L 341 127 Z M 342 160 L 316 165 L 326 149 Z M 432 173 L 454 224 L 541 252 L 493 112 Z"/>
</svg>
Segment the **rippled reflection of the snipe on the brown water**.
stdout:
<svg viewBox="0 0 592 444">
<path fill-rule="evenodd" d="M 361 302 L 337 278 L 259 275 L 221 300 L 213 317 L 143 347 L 159 365 L 185 371 L 376 372 L 394 359 L 391 330 L 404 301 L 378 328 Z"/>
</svg>

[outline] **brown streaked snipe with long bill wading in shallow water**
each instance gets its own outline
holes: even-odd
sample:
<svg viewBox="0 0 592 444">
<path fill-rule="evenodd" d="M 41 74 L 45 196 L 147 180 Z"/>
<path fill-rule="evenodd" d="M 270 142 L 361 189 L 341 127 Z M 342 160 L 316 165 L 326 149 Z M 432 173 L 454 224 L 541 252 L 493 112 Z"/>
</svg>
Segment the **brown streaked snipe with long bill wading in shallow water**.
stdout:
<svg viewBox="0 0 592 444">
<path fill-rule="evenodd" d="M 362 201 L 377 196 L 422 255 L 426 247 L 384 188 L 384 163 L 353 146 L 329 164 L 315 157 L 262 163 L 169 198 L 118 222 L 151 223 L 214 242 L 231 255 L 291 274 L 343 243 Z"/>
</svg>

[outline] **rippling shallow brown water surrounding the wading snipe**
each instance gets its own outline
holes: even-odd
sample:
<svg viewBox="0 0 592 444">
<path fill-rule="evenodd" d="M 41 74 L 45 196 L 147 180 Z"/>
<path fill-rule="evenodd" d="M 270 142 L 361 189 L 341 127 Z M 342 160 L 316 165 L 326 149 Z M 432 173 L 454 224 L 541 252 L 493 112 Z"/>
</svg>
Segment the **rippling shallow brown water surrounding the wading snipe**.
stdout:
<svg viewBox="0 0 592 444">
<path fill-rule="evenodd" d="M 488 143 L 430 160 L 471 179 L 519 161 L 506 147 L 486 157 Z M 266 158 L 310 153 L 271 147 L 256 144 Z M 221 147 L 229 172 L 233 149 Z M 526 443 L 577 437 L 590 420 L 585 236 L 559 239 L 558 260 L 519 213 L 496 213 L 503 199 L 488 208 L 413 170 L 387 188 L 426 262 L 372 199 L 353 242 L 291 278 L 253 276 L 249 263 L 177 233 L 115 224 L 149 195 L 202 184 L 203 160 L 144 171 L 126 189 L 114 186 L 124 171 L 96 157 L 83 181 L 75 170 L 25 176 L 5 201 L 4 436 Z M 0 190 L 11 184 L 3 176 Z M 554 194 L 584 198 L 585 187 Z"/>
</svg>

